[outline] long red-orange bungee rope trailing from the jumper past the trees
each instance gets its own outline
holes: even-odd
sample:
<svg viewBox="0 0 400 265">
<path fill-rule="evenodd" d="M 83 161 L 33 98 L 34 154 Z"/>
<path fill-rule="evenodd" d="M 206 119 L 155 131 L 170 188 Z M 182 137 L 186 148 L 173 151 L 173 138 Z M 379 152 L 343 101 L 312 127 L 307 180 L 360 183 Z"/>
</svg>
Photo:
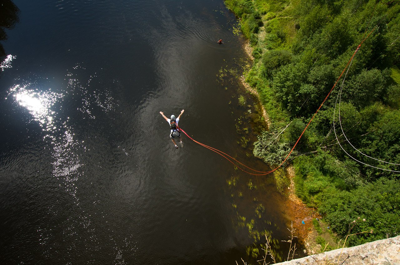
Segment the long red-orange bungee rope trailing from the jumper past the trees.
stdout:
<svg viewBox="0 0 400 265">
<path fill-rule="evenodd" d="M 375 26 L 375 27 L 371 30 L 371 32 L 370 32 L 365 38 L 363 38 L 362 41 L 361 41 L 361 43 L 357 46 L 357 48 L 356 48 L 356 50 L 354 51 L 353 55 L 351 56 L 350 60 L 347 62 L 346 67 L 343 69 L 342 73 L 340 74 L 340 76 L 339 76 L 338 79 L 336 80 L 335 84 L 332 86 L 332 88 L 330 89 L 330 91 L 329 91 L 328 94 L 326 95 L 324 101 L 322 101 L 321 105 L 319 106 L 319 108 L 317 109 L 317 111 L 314 113 L 314 115 L 311 117 L 310 121 L 309 121 L 308 124 L 306 125 L 306 128 L 304 128 L 303 132 L 301 133 L 300 137 L 297 139 L 296 143 L 294 144 L 293 148 L 290 150 L 289 154 L 285 157 L 285 159 L 282 161 L 282 163 L 280 163 L 280 165 L 278 165 L 278 167 L 276 167 L 276 168 L 274 168 L 274 169 L 272 169 L 272 170 L 270 170 L 270 171 L 258 171 L 258 170 L 252 169 L 252 168 L 250 168 L 250 167 L 248 167 L 248 166 L 246 166 L 246 165 L 240 163 L 240 161 L 234 159 L 234 158 L 231 157 L 230 155 L 228 155 L 228 154 L 226 154 L 226 153 L 224 153 L 224 152 L 222 152 L 222 151 L 220 151 L 220 150 L 218 150 L 218 149 L 216 149 L 216 148 L 214 148 L 214 147 L 209 147 L 208 145 L 204 145 L 203 143 L 200 143 L 200 142 L 194 140 L 194 139 L 193 139 L 192 137 L 190 137 L 184 130 L 182 130 L 182 128 L 179 128 L 179 130 L 182 131 L 187 137 L 189 137 L 190 139 L 192 139 L 192 141 L 194 141 L 195 143 L 198 143 L 199 145 L 201 145 L 201 146 L 203 146 L 203 147 L 206 147 L 207 149 L 210 149 L 211 151 L 214 151 L 215 153 L 219 154 L 220 156 L 222 156 L 222 157 L 224 157 L 226 160 L 228 160 L 230 163 L 232 163 L 233 165 L 235 165 L 235 167 L 238 167 L 238 169 L 240 169 L 240 170 L 242 170 L 242 171 L 244 171 L 244 172 L 246 172 L 246 173 L 248 173 L 248 174 L 250 174 L 250 175 L 262 176 L 262 175 L 268 175 L 268 174 L 270 174 L 270 173 L 276 171 L 278 168 L 280 168 L 280 167 L 286 162 L 286 160 L 288 159 L 288 157 L 290 156 L 290 154 L 292 154 L 292 152 L 293 152 L 294 148 L 296 147 L 297 143 L 300 141 L 301 137 L 303 136 L 304 132 L 306 131 L 306 129 L 307 129 L 308 126 L 310 125 L 311 121 L 314 119 L 315 115 L 318 113 L 318 111 L 320 111 L 322 105 L 324 105 L 325 101 L 328 99 L 328 96 L 330 95 L 330 93 L 332 92 L 332 90 L 335 88 L 336 84 L 339 82 L 340 78 L 342 77 L 342 75 L 343 75 L 343 73 L 346 71 L 346 69 L 348 68 L 349 64 L 352 62 L 354 56 L 356 55 L 356 53 L 357 53 L 358 50 L 360 49 L 361 45 L 362 45 L 362 44 L 364 43 L 364 41 L 372 34 L 372 32 L 374 32 L 374 30 L 376 29 L 376 27 L 377 27 L 377 26 Z M 365 33 L 364 33 L 364 36 L 365 36 Z M 364 37 L 364 36 L 363 36 L 363 37 Z M 252 170 L 252 171 L 254 171 L 254 172 L 258 172 L 258 173 L 260 173 L 260 174 L 251 173 L 251 172 L 248 172 L 248 171 L 242 169 L 240 166 L 236 165 L 236 164 L 235 164 L 232 160 L 230 160 L 228 157 L 229 157 L 230 159 L 233 159 L 234 161 L 236 161 L 236 162 L 239 163 L 240 165 L 246 167 L 247 169 L 250 169 L 250 170 Z"/>
</svg>

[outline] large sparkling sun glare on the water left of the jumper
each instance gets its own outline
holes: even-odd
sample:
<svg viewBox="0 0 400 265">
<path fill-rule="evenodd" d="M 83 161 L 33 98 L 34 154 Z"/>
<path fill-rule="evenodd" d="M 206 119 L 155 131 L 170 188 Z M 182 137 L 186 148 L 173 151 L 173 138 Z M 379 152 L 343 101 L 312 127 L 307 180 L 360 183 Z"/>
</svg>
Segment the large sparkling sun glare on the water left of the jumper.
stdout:
<svg viewBox="0 0 400 265">
<path fill-rule="evenodd" d="M 74 70 L 82 72 L 84 68 L 76 66 Z M 74 101 L 75 98 L 78 98 L 82 100 L 78 110 L 94 119 L 93 110 L 95 107 L 97 107 L 96 111 L 105 113 L 114 110 L 114 98 L 107 89 L 98 90 L 96 88 L 98 79 L 96 74 L 90 75 L 88 82 L 84 82 L 83 85 L 74 70 L 66 75 L 66 78 L 68 78 L 67 86 L 65 89 L 60 89 L 62 92 L 41 89 L 41 80 L 21 81 L 9 89 L 6 99 L 18 104 L 22 110 L 25 109 L 30 114 L 29 122 L 35 121 L 42 128 L 43 140 L 52 147 L 52 158 L 54 159 L 52 175 L 60 181 L 59 186 L 73 198 L 74 209 L 78 210 L 78 213 L 80 212 L 77 218 L 68 221 L 68 227 L 63 230 L 64 235 L 70 239 L 79 239 L 76 233 L 81 227 L 90 233 L 90 241 L 96 243 L 98 237 L 93 233 L 92 217 L 84 210 L 78 193 L 80 185 L 84 183 L 82 179 L 86 178 L 82 168 L 84 165 L 80 158 L 80 154 L 87 151 L 86 145 L 84 141 L 77 140 L 74 129 L 70 125 L 70 118 L 65 117 L 62 111 L 64 108 L 68 109 L 68 104 L 71 103 L 64 101 L 65 99 Z M 91 92 L 89 89 L 91 89 Z M 26 155 L 14 155 L 16 155 L 16 158 L 12 161 L 14 167 L 15 165 L 26 164 Z M 33 155 L 31 159 L 30 163 L 37 163 L 38 156 Z M 3 170 L 7 167 L 10 159 L 5 159 L 2 162 L 4 162 L 2 163 Z M 47 164 L 46 161 L 40 163 Z M 42 165 L 40 163 L 37 165 Z M 32 193 L 32 195 L 34 194 Z M 34 201 L 33 198 L 32 201 Z M 94 203 L 94 205 L 96 204 Z M 49 211 L 57 215 L 58 210 L 52 208 Z M 40 227 L 38 229 L 39 243 L 44 245 L 54 241 L 54 230 L 52 227 Z M 45 251 L 44 255 L 51 255 L 49 249 Z"/>
</svg>

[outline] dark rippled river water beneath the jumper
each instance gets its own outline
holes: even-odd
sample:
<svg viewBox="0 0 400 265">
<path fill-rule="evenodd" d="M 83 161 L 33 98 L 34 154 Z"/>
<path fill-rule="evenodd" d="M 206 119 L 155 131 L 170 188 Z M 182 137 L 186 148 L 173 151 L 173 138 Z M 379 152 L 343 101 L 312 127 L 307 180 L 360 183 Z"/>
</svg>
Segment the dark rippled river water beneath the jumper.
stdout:
<svg viewBox="0 0 400 265">
<path fill-rule="evenodd" d="M 184 109 L 194 139 L 268 170 L 222 0 L 1 2 L 1 264 L 233 265 L 261 258 L 261 231 L 287 253 L 271 176 L 186 136 L 176 150 L 159 114 Z"/>
</svg>

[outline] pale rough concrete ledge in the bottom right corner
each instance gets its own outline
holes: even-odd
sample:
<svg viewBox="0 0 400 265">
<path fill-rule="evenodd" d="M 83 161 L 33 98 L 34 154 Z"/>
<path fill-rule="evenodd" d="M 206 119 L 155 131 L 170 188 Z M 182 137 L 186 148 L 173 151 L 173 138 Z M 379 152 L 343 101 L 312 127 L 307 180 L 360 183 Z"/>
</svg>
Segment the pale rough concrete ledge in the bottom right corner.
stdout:
<svg viewBox="0 0 400 265">
<path fill-rule="evenodd" d="M 340 255 L 342 253 L 342 255 Z M 338 258 L 340 256 L 340 260 Z M 276 263 L 280 265 L 400 265 L 400 236 Z"/>
</svg>

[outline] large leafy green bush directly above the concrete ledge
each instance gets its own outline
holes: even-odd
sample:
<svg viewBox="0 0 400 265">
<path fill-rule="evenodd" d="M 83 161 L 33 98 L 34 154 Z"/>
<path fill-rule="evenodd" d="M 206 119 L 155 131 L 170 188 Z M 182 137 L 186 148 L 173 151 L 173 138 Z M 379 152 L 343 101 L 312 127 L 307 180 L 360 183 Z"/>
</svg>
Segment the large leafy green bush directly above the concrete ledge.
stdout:
<svg viewBox="0 0 400 265">
<path fill-rule="evenodd" d="M 351 192 L 326 194 L 319 211 L 342 237 L 347 235 L 350 223 L 355 220 L 360 221 L 351 233 L 372 230 L 372 234 L 349 237 L 349 245 L 394 237 L 400 234 L 400 183 L 381 178 Z"/>
</svg>

